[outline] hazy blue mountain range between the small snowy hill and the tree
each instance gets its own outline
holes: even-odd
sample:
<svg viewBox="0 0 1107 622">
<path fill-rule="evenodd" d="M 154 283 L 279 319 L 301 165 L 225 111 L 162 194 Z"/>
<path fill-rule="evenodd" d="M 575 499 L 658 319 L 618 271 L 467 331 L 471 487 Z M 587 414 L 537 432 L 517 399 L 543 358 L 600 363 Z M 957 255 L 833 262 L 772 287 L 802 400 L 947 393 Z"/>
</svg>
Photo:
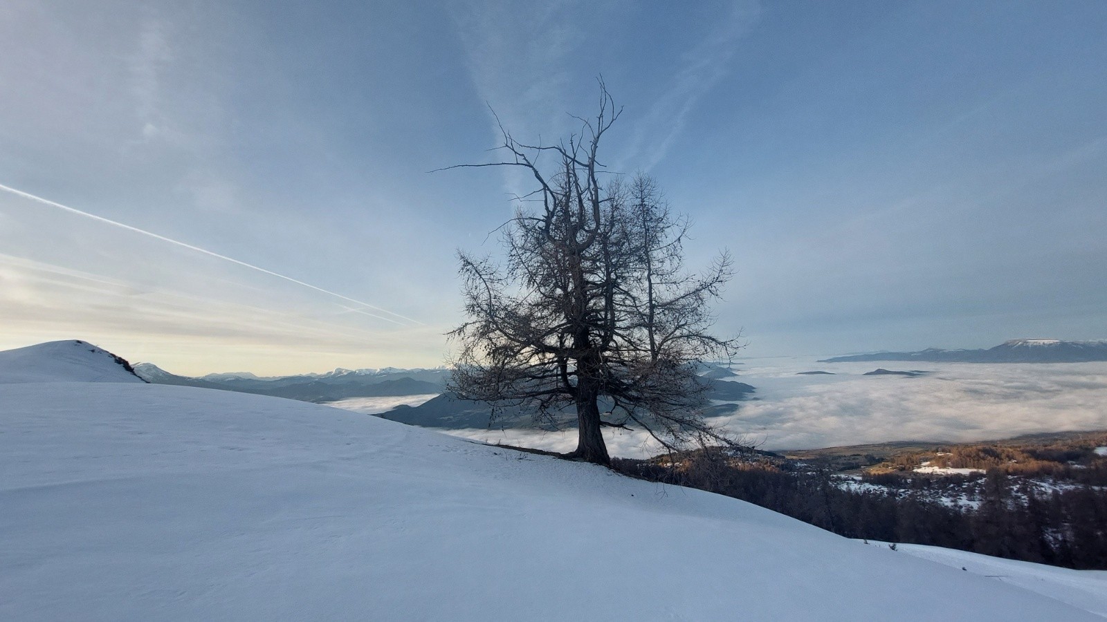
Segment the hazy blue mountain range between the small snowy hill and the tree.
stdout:
<svg viewBox="0 0 1107 622">
<path fill-rule="evenodd" d="M 208 374 L 201 377 L 169 373 L 153 363 L 138 363 L 135 373 L 153 384 L 176 384 L 288 397 L 301 402 L 335 402 L 350 397 L 389 397 L 442 393 L 449 375 L 436 370 L 344 370 L 323 374 L 258 377 L 250 373 Z"/>
</svg>

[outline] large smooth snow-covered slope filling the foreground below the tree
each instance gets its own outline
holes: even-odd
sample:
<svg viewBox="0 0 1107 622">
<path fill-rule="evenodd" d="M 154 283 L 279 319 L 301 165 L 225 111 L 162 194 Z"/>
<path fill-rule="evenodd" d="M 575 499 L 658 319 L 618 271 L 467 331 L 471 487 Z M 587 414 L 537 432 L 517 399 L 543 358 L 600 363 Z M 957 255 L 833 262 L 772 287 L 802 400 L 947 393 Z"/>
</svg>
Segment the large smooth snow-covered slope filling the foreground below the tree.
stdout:
<svg viewBox="0 0 1107 622">
<path fill-rule="evenodd" d="M 0 385 L 2 620 L 1088 620 L 782 515 L 275 397 Z"/>
</svg>

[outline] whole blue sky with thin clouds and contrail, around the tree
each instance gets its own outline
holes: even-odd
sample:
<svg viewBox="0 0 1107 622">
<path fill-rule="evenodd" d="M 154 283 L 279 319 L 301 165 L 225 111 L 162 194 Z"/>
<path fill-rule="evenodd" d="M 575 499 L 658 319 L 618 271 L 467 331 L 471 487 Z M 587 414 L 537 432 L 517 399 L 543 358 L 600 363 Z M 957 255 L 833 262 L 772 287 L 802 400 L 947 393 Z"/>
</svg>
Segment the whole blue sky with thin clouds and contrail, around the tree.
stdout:
<svg viewBox="0 0 1107 622">
<path fill-rule="evenodd" d="M 0 346 L 170 371 L 433 366 L 526 180 L 427 173 L 588 115 L 694 221 L 751 355 L 1107 338 L 1107 3 L 0 7 Z M 349 299 L 385 309 L 361 307 Z M 371 313 L 371 314 L 370 314 Z M 394 314 L 393 314 L 394 313 Z"/>
</svg>

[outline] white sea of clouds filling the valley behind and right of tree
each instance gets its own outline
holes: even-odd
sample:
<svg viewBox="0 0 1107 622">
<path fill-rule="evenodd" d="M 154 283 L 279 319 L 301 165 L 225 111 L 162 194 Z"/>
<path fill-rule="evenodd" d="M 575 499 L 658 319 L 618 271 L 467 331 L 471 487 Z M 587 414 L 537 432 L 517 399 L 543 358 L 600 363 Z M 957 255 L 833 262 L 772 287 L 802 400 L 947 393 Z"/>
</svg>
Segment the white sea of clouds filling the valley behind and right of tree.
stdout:
<svg viewBox="0 0 1107 622">
<path fill-rule="evenodd" d="M 877 367 L 925 375 L 866 376 Z M 1107 363 L 818 363 L 815 357 L 749 359 L 732 380 L 754 385 L 736 413 L 711 419 L 763 449 L 804 449 L 889 440 L 969 442 L 1021 434 L 1107 429 Z M 797 375 L 827 371 L 835 375 Z M 451 434 L 568 452 L 576 431 L 462 429 Z M 658 453 L 644 432 L 606 429 L 612 455 Z"/>
</svg>

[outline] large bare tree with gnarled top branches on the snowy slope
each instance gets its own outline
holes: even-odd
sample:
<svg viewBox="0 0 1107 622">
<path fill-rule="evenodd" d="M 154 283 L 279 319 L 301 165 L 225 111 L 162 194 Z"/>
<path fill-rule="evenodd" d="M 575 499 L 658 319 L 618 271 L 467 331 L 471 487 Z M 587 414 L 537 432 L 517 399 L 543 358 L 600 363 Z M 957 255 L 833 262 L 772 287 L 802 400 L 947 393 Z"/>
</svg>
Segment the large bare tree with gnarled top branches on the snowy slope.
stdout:
<svg viewBox="0 0 1107 622">
<path fill-rule="evenodd" d="M 504 228 L 504 265 L 458 253 L 468 319 L 449 333 L 458 345 L 449 388 L 492 404 L 494 418 L 524 406 L 552 422 L 575 405 L 569 456 L 591 463 L 610 462 L 603 426 L 638 426 L 670 449 L 731 444 L 701 416 L 707 386 L 696 375 L 700 361 L 739 346 L 707 332 L 731 259 L 720 255 L 699 276 L 684 269 L 687 221 L 656 183 L 604 175 L 600 139 L 621 110 L 602 82 L 599 107 L 557 145 L 519 143 L 500 126 L 507 158 L 458 165 L 519 166 L 537 187 Z"/>
</svg>

